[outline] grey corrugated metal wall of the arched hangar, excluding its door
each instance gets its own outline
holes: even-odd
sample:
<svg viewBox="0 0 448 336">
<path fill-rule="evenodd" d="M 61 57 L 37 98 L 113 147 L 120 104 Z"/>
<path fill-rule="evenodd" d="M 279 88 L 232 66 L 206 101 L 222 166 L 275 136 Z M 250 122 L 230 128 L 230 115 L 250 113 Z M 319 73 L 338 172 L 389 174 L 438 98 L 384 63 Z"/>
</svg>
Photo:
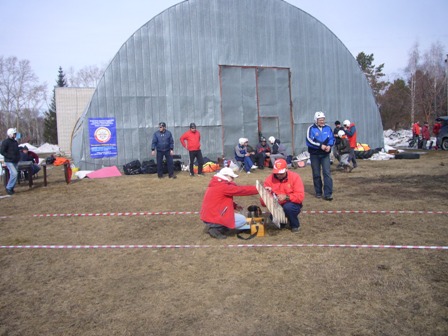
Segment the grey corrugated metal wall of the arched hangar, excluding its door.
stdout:
<svg viewBox="0 0 448 336">
<path fill-rule="evenodd" d="M 364 74 L 321 22 L 281 0 L 190 0 L 160 13 L 123 44 L 77 125 L 73 159 L 83 169 L 148 159 L 160 121 L 176 140 L 195 122 L 204 155 L 221 156 L 224 143 L 232 140 L 222 127 L 220 66 L 289 69 L 291 153 L 306 148 L 315 111 L 326 112 L 331 126 L 336 119 L 350 119 L 360 141 L 383 145 L 380 115 Z M 233 111 L 235 123 L 243 110 Z M 118 157 L 90 159 L 87 118 L 92 117 L 116 118 Z M 240 134 L 234 143 L 257 132 Z M 178 141 L 175 152 L 187 154 Z"/>
</svg>

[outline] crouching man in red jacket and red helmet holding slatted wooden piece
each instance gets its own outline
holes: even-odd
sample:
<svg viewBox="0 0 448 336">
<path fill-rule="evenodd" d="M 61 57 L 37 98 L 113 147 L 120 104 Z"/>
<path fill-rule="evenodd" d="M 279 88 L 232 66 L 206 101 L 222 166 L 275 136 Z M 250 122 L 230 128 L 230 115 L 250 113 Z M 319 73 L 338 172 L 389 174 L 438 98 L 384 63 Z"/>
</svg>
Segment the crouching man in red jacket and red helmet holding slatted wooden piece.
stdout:
<svg viewBox="0 0 448 336">
<path fill-rule="evenodd" d="M 300 230 L 299 213 L 305 199 L 305 188 L 299 174 L 288 171 L 287 167 L 284 159 L 275 160 L 272 174 L 264 181 L 264 187 L 277 196 L 278 203 L 288 218 L 291 232 L 297 233 Z M 262 205 L 265 206 L 263 201 Z"/>
</svg>

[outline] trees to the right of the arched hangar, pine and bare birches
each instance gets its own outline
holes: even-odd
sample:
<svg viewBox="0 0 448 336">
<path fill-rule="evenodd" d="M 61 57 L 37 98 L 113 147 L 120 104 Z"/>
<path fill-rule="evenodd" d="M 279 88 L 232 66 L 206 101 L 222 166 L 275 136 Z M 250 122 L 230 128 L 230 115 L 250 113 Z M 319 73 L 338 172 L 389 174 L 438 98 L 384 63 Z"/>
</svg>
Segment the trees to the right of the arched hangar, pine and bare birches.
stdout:
<svg viewBox="0 0 448 336">
<path fill-rule="evenodd" d="M 372 87 L 383 129 L 409 129 L 416 121 L 431 125 L 448 115 L 448 55 L 439 42 L 423 53 L 416 43 L 403 75 L 393 82 L 384 80 L 384 64 L 375 66 L 373 54 L 361 52 L 356 60 Z"/>
</svg>

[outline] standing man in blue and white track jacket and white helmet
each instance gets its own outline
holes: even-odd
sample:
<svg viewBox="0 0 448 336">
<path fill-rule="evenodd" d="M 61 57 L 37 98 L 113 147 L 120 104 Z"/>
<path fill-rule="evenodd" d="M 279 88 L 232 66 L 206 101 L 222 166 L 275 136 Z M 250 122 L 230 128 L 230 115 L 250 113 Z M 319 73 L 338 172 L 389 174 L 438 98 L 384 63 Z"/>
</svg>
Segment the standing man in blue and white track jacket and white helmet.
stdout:
<svg viewBox="0 0 448 336">
<path fill-rule="evenodd" d="M 322 169 L 324 200 L 332 201 L 333 179 L 330 172 L 330 153 L 334 144 L 334 135 L 331 127 L 325 124 L 325 114 L 323 112 L 314 114 L 314 124 L 308 127 L 306 144 L 310 153 L 316 197 L 322 198 Z"/>
</svg>

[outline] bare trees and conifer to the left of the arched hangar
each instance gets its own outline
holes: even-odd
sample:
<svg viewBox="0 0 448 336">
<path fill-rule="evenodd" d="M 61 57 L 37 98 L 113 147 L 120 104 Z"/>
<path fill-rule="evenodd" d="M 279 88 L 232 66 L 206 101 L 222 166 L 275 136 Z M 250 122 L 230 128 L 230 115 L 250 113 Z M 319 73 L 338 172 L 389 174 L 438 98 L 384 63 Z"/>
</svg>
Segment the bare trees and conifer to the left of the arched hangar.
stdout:
<svg viewBox="0 0 448 336">
<path fill-rule="evenodd" d="M 96 87 L 103 72 L 97 66 L 86 66 L 79 71 L 70 68 L 66 75 L 59 67 L 56 86 Z M 55 92 L 48 97 L 47 90 L 30 61 L 0 56 L 0 139 L 8 128 L 17 128 L 21 142 L 57 144 Z"/>
</svg>

